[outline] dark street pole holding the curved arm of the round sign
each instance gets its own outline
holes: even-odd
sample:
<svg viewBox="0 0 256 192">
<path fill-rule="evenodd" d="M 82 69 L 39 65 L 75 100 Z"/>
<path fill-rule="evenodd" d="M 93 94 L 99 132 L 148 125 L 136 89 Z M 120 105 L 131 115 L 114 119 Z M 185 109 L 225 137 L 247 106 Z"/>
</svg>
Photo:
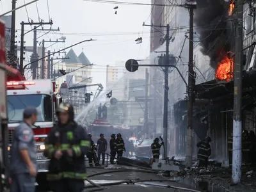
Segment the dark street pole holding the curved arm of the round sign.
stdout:
<svg viewBox="0 0 256 192">
<path fill-rule="evenodd" d="M 188 109 L 187 109 L 187 131 L 186 131 L 186 167 L 192 166 L 192 124 L 193 124 L 193 90 L 195 81 L 193 69 L 194 54 L 194 8 L 189 8 L 189 64 L 188 64 Z"/>
</svg>

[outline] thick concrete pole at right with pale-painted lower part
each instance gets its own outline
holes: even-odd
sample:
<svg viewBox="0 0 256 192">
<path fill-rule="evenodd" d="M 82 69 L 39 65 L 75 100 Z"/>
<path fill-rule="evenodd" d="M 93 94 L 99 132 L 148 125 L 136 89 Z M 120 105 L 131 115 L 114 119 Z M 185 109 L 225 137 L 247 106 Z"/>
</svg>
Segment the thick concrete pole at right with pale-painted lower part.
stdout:
<svg viewBox="0 0 256 192">
<path fill-rule="evenodd" d="M 234 116 L 233 116 L 233 153 L 232 181 L 241 182 L 242 165 L 242 83 L 243 83 L 243 1 L 237 0 L 235 17 L 236 56 L 234 65 Z"/>
</svg>

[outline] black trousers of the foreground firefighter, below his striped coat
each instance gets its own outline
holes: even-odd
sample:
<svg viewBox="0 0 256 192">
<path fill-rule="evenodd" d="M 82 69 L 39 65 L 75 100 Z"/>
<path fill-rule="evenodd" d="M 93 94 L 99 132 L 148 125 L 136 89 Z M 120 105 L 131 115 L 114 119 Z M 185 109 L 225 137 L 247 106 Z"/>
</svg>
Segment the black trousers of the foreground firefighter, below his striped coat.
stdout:
<svg viewBox="0 0 256 192">
<path fill-rule="evenodd" d="M 51 188 L 54 192 L 82 192 L 84 189 L 84 180 L 76 180 L 76 179 L 56 180 L 51 182 Z M 31 191 L 31 192 L 34 192 L 34 191 Z"/>
</svg>

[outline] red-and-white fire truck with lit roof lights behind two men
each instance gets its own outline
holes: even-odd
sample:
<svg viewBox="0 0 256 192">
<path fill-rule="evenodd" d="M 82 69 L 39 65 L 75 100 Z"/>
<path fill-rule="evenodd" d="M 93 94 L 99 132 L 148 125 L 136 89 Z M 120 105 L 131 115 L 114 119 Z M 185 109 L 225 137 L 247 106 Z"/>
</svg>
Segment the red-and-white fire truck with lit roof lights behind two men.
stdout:
<svg viewBox="0 0 256 192">
<path fill-rule="evenodd" d="M 27 107 L 35 107 L 38 121 L 33 127 L 37 148 L 38 175 L 36 182 L 40 189 L 47 189 L 46 173 L 49 159 L 44 157 L 44 141 L 54 125 L 55 83 L 51 79 L 25 81 L 16 76 L 8 77 L 6 83 L 8 102 L 8 150 L 12 147 L 12 134 L 22 121 L 22 113 Z M 20 80 L 20 81 L 18 81 Z"/>
</svg>

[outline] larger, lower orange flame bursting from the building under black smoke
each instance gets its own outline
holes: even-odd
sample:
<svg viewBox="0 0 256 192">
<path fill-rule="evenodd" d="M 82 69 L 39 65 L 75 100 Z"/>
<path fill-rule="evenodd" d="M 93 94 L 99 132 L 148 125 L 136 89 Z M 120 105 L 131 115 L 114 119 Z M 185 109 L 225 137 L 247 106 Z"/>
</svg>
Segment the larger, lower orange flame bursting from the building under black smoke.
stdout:
<svg viewBox="0 0 256 192">
<path fill-rule="evenodd" d="M 220 63 L 218 63 L 218 67 L 216 70 L 216 79 L 218 80 L 226 80 L 230 81 L 233 79 L 233 59 L 228 58 L 225 56 Z"/>
</svg>

